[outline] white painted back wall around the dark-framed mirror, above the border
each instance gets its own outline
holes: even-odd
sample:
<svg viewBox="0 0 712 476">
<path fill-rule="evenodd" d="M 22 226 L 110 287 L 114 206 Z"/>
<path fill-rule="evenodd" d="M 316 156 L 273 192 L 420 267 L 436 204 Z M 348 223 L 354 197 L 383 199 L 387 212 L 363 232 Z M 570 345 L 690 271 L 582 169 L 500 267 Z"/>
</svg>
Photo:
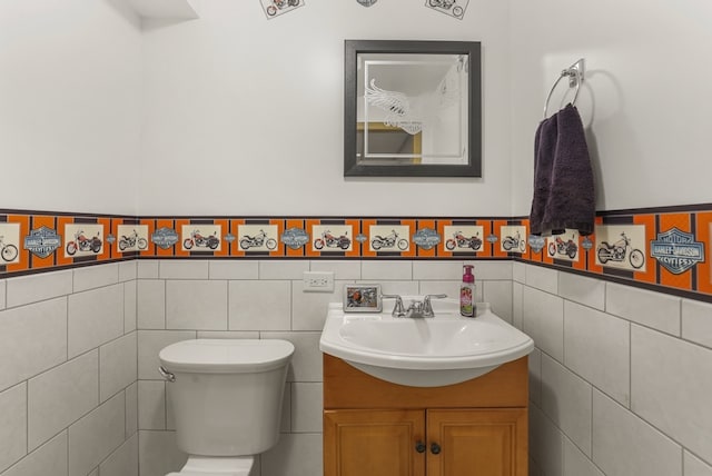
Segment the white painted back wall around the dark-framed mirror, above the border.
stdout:
<svg viewBox="0 0 712 476">
<path fill-rule="evenodd" d="M 257 0 L 191 0 L 199 20 L 147 20 L 139 211 L 188 215 L 506 215 L 508 4 L 464 20 L 423 1 L 309 0 L 267 20 Z M 483 179 L 344 179 L 345 39 L 483 42 Z"/>
</svg>

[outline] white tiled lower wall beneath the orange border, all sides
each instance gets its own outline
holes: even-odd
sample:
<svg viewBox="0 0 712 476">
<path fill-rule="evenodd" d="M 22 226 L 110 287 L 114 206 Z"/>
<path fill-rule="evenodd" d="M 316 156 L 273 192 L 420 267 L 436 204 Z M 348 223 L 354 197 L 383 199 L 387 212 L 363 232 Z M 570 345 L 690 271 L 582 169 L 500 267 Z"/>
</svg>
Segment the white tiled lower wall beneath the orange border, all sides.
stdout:
<svg viewBox="0 0 712 476">
<path fill-rule="evenodd" d="M 256 476 L 322 474 L 318 339 L 322 313 L 328 301 L 340 300 L 340 286 L 333 295 L 303 292 L 301 272 L 330 270 L 339 284 L 376 281 L 386 292 L 414 295 L 456 291 L 463 262 L 285 260 L 281 270 L 283 261 L 266 262 L 125 261 L 0 280 L 0 476 L 135 476 L 139 463 L 140 476 L 179 468 L 186 456 L 170 432 L 157 355 L 197 336 L 295 344 L 284 434 L 261 456 Z M 712 476 L 712 410 L 705 406 L 712 390 L 711 305 L 522 262 L 475 265 L 478 295 L 503 309 L 503 317 L 511 309 L 511 320 L 537 345 L 530 356 L 531 476 Z M 211 314 L 225 306 L 227 327 L 206 324 L 214 316 L 180 315 L 178 290 L 191 284 L 216 289 L 204 281 L 227 285 L 217 308 L 204 295 Z M 166 292 L 169 284 L 174 290 Z M 90 327 L 82 335 L 79 323 L 87 314 L 70 317 L 69 303 L 72 313 L 80 303 L 91 309 L 102 292 L 122 310 L 97 317 L 107 319 L 110 333 Z M 72 390 L 62 386 L 65 379 L 90 387 L 82 393 L 90 397 L 67 396 Z M 150 413 L 152 399 L 162 422 Z M 51 408 L 63 420 L 46 418 Z M 159 429 L 139 430 L 139 419 L 141 427 Z M 17 443 L 22 439 L 26 448 Z"/>
</svg>

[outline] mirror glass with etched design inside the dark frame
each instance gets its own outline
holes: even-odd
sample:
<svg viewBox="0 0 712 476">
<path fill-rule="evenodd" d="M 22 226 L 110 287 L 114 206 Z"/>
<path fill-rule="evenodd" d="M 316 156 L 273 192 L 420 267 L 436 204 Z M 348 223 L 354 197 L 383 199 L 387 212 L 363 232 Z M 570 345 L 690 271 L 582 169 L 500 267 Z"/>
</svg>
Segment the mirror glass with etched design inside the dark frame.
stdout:
<svg viewBox="0 0 712 476">
<path fill-rule="evenodd" d="M 356 161 L 467 163 L 466 54 L 357 56 Z"/>
</svg>

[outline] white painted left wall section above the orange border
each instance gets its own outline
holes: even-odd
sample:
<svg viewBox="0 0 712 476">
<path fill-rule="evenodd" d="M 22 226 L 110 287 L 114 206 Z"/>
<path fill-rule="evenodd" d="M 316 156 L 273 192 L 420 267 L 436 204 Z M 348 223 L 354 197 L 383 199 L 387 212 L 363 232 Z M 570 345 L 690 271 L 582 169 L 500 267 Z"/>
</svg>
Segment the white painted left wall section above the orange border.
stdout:
<svg viewBox="0 0 712 476">
<path fill-rule="evenodd" d="M 138 211 L 140 41 L 122 0 L 0 3 L 0 208 Z"/>
</svg>

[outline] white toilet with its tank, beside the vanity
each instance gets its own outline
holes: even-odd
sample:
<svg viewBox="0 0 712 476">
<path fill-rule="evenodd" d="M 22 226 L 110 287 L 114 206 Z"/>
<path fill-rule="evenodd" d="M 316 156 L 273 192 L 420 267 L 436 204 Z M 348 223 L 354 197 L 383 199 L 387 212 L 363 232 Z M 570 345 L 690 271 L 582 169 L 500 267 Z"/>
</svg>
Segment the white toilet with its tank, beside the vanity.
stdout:
<svg viewBox="0 0 712 476">
<path fill-rule="evenodd" d="M 294 346 L 278 339 L 197 339 L 165 347 L 178 447 L 188 454 L 167 476 L 248 476 L 255 455 L 279 438 Z"/>
</svg>

